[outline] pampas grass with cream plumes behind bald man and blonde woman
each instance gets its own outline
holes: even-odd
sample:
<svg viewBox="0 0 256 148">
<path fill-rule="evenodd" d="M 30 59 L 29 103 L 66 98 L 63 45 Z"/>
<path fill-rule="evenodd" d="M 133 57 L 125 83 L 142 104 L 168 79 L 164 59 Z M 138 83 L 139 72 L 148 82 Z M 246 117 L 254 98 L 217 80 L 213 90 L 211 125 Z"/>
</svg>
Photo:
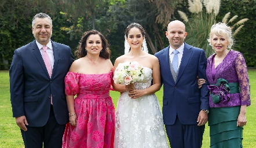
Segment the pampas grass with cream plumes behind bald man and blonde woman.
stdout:
<svg viewBox="0 0 256 148">
<path fill-rule="evenodd" d="M 178 10 L 180 17 L 188 26 L 186 27 L 186 31 L 188 32 L 186 43 L 204 49 L 206 51 L 206 57 L 209 57 L 211 54 L 213 54 L 214 50 L 209 45 L 207 39 L 209 38 L 211 26 L 220 22 L 218 19 L 216 19 L 216 17 L 220 12 L 221 1 L 188 0 L 188 5 L 188 10 L 191 12 L 190 18 L 188 18 L 184 12 Z M 225 16 L 222 18 L 222 22 L 226 24 L 233 23 L 231 28 L 233 31 L 235 31 L 235 34 L 240 31 L 240 29 L 243 27 L 243 24 L 248 20 L 248 18 L 244 18 L 234 23 L 234 20 L 236 20 L 237 16 L 232 17 L 230 20 L 229 17 L 230 12 L 225 14 Z M 197 38 L 194 38 L 194 36 Z"/>
</svg>

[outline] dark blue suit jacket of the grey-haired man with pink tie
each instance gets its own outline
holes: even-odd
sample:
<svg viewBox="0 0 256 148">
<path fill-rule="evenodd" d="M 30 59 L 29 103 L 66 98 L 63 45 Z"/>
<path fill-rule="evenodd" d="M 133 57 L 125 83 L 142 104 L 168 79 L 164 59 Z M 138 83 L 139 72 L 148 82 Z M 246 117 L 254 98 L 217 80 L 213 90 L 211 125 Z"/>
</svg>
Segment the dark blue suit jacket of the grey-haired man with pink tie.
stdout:
<svg viewBox="0 0 256 148">
<path fill-rule="evenodd" d="M 42 127 L 50 114 L 50 96 L 58 124 L 68 122 L 64 77 L 74 58 L 70 47 L 52 41 L 54 66 L 50 78 L 35 40 L 14 51 L 10 65 L 13 117 L 25 116 L 29 126 Z"/>
</svg>

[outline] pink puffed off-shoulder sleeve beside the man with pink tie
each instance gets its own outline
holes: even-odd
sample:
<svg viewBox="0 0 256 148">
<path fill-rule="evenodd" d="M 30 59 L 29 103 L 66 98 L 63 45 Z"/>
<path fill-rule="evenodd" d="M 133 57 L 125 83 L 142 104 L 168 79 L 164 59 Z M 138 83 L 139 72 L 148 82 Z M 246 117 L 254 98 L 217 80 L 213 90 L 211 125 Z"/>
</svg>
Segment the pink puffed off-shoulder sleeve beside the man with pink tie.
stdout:
<svg viewBox="0 0 256 148">
<path fill-rule="evenodd" d="M 68 72 L 65 76 L 65 94 L 76 95 L 79 92 L 79 73 Z"/>
</svg>

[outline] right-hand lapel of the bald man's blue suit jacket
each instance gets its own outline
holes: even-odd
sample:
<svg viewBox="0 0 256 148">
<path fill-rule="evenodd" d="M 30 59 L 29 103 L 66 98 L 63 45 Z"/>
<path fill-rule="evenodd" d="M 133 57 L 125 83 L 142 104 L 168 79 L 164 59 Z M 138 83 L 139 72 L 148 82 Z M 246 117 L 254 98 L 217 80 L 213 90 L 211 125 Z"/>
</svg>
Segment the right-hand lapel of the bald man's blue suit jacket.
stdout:
<svg viewBox="0 0 256 148">
<path fill-rule="evenodd" d="M 181 58 L 180 68 L 178 69 L 178 77 L 177 77 L 176 83 L 178 82 L 182 73 L 184 72 L 192 53 L 193 53 L 193 51 L 191 49 L 191 46 L 188 46 L 185 43 L 184 51 L 183 51 L 182 58 Z"/>
</svg>

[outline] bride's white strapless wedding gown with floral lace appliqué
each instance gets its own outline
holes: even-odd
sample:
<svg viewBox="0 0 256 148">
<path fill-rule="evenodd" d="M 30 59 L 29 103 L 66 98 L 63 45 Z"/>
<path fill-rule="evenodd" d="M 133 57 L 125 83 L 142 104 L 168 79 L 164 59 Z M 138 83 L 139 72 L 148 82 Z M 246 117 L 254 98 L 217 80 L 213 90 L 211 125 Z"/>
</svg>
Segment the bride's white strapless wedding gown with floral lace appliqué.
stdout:
<svg viewBox="0 0 256 148">
<path fill-rule="evenodd" d="M 145 68 L 144 80 L 136 82 L 136 89 L 151 86 L 152 69 Z M 169 147 L 163 117 L 155 94 L 131 99 L 128 91 L 118 100 L 115 121 L 114 147 Z"/>
</svg>

